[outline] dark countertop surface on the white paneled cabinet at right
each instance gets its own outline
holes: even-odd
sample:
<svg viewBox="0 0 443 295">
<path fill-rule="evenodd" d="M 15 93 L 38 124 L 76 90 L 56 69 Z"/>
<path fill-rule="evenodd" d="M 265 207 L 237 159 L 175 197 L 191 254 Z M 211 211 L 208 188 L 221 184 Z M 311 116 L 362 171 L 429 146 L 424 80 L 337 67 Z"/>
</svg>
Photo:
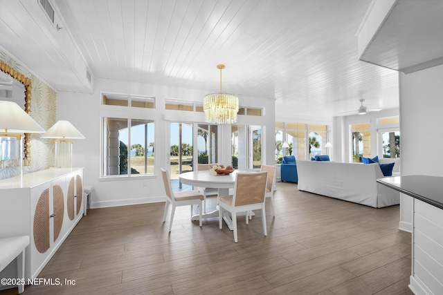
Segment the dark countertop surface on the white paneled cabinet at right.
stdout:
<svg viewBox="0 0 443 295">
<path fill-rule="evenodd" d="M 443 177 L 408 175 L 380 178 L 377 182 L 443 209 Z"/>
</svg>

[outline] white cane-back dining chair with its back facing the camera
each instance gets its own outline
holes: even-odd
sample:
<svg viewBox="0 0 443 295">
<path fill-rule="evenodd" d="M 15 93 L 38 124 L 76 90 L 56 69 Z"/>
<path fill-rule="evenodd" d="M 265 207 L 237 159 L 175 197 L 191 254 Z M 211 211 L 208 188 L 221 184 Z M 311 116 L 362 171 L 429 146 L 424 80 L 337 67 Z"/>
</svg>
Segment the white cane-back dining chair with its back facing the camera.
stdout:
<svg viewBox="0 0 443 295">
<path fill-rule="evenodd" d="M 223 227 L 223 213 L 230 213 L 234 231 L 234 242 L 237 238 L 237 213 L 260 209 L 262 211 L 263 234 L 266 231 L 266 211 L 264 207 L 264 193 L 266 191 L 266 178 L 268 172 L 237 173 L 235 175 L 234 193 L 229 196 L 219 197 L 219 228 Z M 246 214 L 246 224 L 248 214 Z"/>
</svg>

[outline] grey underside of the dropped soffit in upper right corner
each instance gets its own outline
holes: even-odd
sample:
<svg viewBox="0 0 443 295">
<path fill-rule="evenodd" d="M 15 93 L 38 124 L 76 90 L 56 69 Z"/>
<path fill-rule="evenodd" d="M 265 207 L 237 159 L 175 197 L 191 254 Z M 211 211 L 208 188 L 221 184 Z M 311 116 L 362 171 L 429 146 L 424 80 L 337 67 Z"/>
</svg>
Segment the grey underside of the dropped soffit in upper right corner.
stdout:
<svg viewBox="0 0 443 295">
<path fill-rule="evenodd" d="M 412 73 L 443 64 L 443 1 L 401 0 L 360 59 Z"/>
</svg>

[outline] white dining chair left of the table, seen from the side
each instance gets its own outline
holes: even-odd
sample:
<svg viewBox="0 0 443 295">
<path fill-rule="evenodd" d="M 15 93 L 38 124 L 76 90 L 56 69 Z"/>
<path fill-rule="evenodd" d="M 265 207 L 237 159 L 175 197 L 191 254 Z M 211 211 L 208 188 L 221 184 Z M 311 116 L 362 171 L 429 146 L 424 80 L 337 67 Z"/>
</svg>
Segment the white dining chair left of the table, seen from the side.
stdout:
<svg viewBox="0 0 443 295">
<path fill-rule="evenodd" d="M 165 186 L 166 193 L 166 204 L 165 204 L 165 213 L 163 215 L 163 222 L 166 221 L 166 214 L 168 213 L 169 204 L 172 205 L 171 210 L 171 219 L 169 223 L 169 231 L 172 228 L 172 221 L 174 220 L 175 208 L 179 206 L 188 206 L 191 207 L 191 216 L 194 209 L 194 205 L 199 206 L 199 225 L 201 227 L 201 211 L 202 211 L 202 202 L 203 195 L 197 191 L 172 191 L 171 181 L 169 177 L 168 171 L 161 168 L 161 176 L 163 178 L 163 184 Z"/>
</svg>

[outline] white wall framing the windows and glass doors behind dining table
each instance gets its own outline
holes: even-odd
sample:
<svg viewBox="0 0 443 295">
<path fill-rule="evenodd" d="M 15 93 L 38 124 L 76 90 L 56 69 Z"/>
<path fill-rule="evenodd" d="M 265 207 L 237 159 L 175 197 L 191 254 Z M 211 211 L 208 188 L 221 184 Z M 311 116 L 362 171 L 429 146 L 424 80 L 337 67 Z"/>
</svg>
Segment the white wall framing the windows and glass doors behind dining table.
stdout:
<svg viewBox="0 0 443 295">
<path fill-rule="evenodd" d="M 155 120 L 155 175 L 131 180 L 100 180 L 100 115 L 101 92 L 150 95 L 156 97 Z M 93 95 L 83 93 L 57 93 L 57 120 L 69 120 L 85 137 L 75 140 L 73 166 L 84 167 L 84 184 L 93 186 L 91 206 L 111 207 L 164 200 L 160 168 L 168 167 L 169 122 L 204 122 L 203 113 L 165 111 L 165 99 L 186 99 L 203 102 L 206 93 L 183 88 L 156 86 L 130 82 L 97 79 Z M 273 99 L 239 97 L 242 106 L 262 107 L 265 116 L 239 116 L 237 124 L 265 126 L 266 141 L 263 149 L 266 164 L 274 164 L 275 103 Z M 141 108 L 141 111 L 151 111 Z M 219 162 L 230 163 L 230 125 L 219 126 Z M 269 146 L 271 148 L 269 148 Z M 143 184 L 146 183 L 146 187 Z"/>
</svg>

